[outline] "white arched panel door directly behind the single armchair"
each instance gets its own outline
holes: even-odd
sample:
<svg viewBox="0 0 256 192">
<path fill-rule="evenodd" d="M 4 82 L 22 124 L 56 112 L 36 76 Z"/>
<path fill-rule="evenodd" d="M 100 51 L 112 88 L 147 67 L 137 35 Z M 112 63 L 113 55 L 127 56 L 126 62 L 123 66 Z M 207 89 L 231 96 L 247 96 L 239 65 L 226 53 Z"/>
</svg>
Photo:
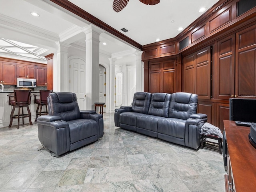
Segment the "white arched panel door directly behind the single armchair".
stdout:
<svg viewBox="0 0 256 192">
<path fill-rule="evenodd" d="M 74 58 L 70 60 L 70 92 L 76 93 L 80 110 L 86 110 L 85 97 L 85 61 Z"/>
</svg>

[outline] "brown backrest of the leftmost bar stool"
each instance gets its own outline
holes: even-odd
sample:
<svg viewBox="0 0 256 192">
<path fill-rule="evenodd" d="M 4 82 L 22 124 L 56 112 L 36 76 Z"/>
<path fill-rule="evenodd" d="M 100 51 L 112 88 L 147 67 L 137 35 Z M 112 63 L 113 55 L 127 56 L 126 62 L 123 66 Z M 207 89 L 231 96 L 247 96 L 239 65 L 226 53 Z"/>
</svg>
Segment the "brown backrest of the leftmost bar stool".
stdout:
<svg viewBox="0 0 256 192">
<path fill-rule="evenodd" d="M 30 105 L 31 90 L 13 90 L 14 92 L 14 106 Z"/>
</svg>

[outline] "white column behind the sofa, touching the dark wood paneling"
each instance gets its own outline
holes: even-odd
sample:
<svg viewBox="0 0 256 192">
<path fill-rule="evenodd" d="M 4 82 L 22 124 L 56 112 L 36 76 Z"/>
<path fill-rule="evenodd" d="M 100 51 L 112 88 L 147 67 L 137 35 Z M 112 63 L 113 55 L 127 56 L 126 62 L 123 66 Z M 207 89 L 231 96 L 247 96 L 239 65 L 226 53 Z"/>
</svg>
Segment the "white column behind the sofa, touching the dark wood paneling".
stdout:
<svg viewBox="0 0 256 192">
<path fill-rule="evenodd" d="M 142 67 L 142 60 L 141 55 L 143 51 L 135 52 L 136 56 L 136 92 L 144 91 L 143 84 L 144 84 L 144 76 L 142 74 L 143 67 Z"/>
</svg>

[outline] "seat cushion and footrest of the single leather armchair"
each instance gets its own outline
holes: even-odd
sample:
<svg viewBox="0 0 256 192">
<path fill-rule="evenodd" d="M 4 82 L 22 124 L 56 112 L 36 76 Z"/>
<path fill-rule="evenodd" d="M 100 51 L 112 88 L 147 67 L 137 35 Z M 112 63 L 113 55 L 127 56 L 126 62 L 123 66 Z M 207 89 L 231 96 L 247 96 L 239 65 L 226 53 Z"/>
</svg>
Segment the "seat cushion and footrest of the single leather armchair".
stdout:
<svg viewBox="0 0 256 192">
<path fill-rule="evenodd" d="M 70 129 L 70 143 L 97 135 L 98 125 L 92 119 L 76 119 L 68 122 Z"/>
</svg>

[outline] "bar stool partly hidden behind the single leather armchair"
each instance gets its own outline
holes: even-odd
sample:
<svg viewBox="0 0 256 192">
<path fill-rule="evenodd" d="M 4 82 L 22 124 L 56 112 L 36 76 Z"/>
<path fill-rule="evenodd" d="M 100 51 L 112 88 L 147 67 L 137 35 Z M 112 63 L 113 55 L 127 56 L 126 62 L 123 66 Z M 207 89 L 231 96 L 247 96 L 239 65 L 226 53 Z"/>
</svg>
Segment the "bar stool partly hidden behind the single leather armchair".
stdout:
<svg viewBox="0 0 256 192">
<path fill-rule="evenodd" d="M 38 96 L 38 95 L 34 94 L 34 97 L 35 97 L 34 103 L 38 104 L 38 106 L 36 108 L 36 120 L 37 120 L 38 115 L 39 116 L 48 115 L 47 97 L 49 96 L 50 93 L 52 93 L 52 90 L 39 90 L 40 99 L 36 99 L 36 96 Z M 45 111 L 42 111 L 42 106 L 45 106 Z M 40 108 L 40 110 L 39 110 L 39 108 Z M 35 122 L 36 122 L 36 120 L 35 120 Z"/>
</svg>

